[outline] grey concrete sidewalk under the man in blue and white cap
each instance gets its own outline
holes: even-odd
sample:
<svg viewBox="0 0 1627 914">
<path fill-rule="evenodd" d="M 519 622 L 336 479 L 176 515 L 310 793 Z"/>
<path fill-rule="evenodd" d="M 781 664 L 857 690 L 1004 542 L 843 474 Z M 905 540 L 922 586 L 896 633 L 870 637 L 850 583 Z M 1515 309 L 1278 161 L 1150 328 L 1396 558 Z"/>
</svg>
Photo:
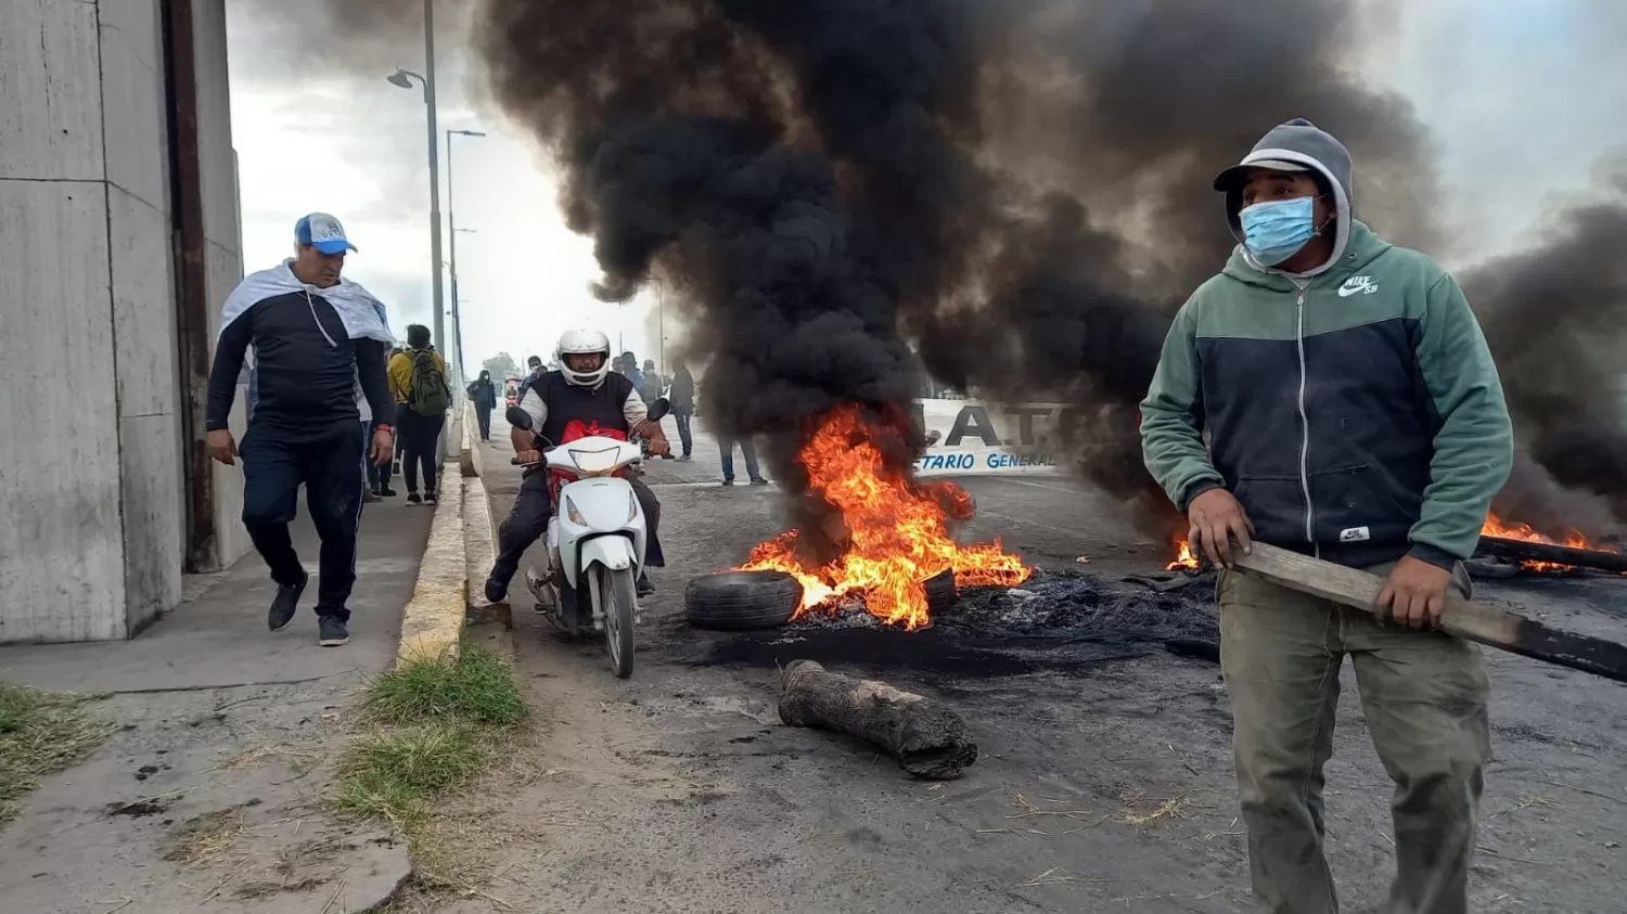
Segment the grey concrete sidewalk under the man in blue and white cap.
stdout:
<svg viewBox="0 0 1627 914">
<path fill-rule="evenodd" d="M 294 545 L 312 581 L 280 633 L 265 628 L 272 589 L 251 553 L 189 581 L 190 598 L 132 641 L 0 647 L 5 681 L 106 694 L 91 709 L 122 727 L 0 826 L 3 907 L 356 911 L 394 891 L 405 847 L 330 820 L 321 763 L 356 688 L 395 660 L 433 514 L 402 498 L 366 507 L 343 647 L 316 644 L 303 506 Z"/>
</svg>

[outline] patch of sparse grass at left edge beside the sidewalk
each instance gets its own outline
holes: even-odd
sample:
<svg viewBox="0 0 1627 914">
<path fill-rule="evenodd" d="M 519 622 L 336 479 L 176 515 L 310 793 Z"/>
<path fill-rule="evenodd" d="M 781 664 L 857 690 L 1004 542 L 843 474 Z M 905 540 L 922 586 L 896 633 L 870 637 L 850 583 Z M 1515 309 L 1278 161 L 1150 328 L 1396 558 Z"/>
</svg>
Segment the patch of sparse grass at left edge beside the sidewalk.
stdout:
<svg viewBox="0 0 1627 914">
<path fill-rule="evenodd" d="M 0 823 L 41 777 L 89 755 L 117 729 L 89 714 L 86 701 L 0 683 Z"/>
</svg>

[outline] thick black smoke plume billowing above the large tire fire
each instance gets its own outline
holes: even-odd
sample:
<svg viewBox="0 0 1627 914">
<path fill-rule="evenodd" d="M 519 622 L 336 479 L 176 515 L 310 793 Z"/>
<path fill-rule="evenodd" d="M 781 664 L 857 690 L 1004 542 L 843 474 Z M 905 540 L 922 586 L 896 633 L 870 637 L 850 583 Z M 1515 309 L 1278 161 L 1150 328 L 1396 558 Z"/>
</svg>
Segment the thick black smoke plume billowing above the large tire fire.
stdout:
<svg viewBox="0 0 1627 914">
<path fill-rule="evenodd" d="M 1443 241 L 1427 132 L 1352 76 L 1355 11 L 482 0 L 475 41 L 496 101 L 565 169 L 602 296 L 669 283 L 700 329 L 709 415 L 776 433 L 783 475 L 796 431 L 831 407 L 903 415 L 918 387 L 908 338 L 957 387 L 1084 407 L 1079 468 L 1158 519 L 1136 403 L 1170 314 L 1233 244 L 1215 171 L 1310 117 L 1350 146 L 1360 218 L 1402 244 Z M 1536 459 L 1564 464 L 1570 449 L 1541 442 L 1580 424 L 1538 434 Z M 1588 442 L 1599 455 L 1557 475 L 1599 488 L 1614 442 Z M 916 447 L 906 437 L 898 459 Z"/>
</svg>

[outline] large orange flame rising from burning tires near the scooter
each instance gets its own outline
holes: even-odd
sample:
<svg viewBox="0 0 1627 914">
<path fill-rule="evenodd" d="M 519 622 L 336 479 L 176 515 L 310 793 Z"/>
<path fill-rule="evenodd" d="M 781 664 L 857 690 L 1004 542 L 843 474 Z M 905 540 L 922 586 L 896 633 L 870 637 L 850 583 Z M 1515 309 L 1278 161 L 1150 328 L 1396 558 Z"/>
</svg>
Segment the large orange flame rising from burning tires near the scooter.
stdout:
<svg viewBox="0 0 1627 914">
<path fill-rule="evenodd" d="M 971 517 L 971 496 L 949 481 L 919 483 L 890 470 L 875 444 L 875 429 L 857 407 L 825 416 L 797 455 L 809 493 L 825 499 L 846 525 L 846 551 L 807 568 L 797 556 L 797 532 L 758 543 L 742 571 L 784 571 L 802 582 L 794 618 L 830 608 L 849 594 L 864 595 L 869 612 L 908 631 L 931 625 L 926 581 L 945 569 L 958 585 L 1015 585 L 1033 569 L 1007 555 L 999 540 L 963 546 L 949 537 L 949 520 Z"/>
</svg>

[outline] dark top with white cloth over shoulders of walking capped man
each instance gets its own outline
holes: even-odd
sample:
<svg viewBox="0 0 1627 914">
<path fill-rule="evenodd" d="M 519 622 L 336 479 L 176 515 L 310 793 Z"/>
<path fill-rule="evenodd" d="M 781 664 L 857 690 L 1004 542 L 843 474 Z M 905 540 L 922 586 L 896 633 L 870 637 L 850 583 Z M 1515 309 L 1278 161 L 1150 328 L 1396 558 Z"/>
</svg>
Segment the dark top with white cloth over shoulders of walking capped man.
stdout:
<svg viewBox="0 0 1627 914">
<path fill-rule="evenodd" d="M 392 342 L 384 304 L 358 283 L 308 286 L 288 260 L 251 273 L 221 312 L 205 428 L 226 428 L 246 361 L 254 426 L 306 436 L 340 421 L 387 418 Z"/>
</svg>

